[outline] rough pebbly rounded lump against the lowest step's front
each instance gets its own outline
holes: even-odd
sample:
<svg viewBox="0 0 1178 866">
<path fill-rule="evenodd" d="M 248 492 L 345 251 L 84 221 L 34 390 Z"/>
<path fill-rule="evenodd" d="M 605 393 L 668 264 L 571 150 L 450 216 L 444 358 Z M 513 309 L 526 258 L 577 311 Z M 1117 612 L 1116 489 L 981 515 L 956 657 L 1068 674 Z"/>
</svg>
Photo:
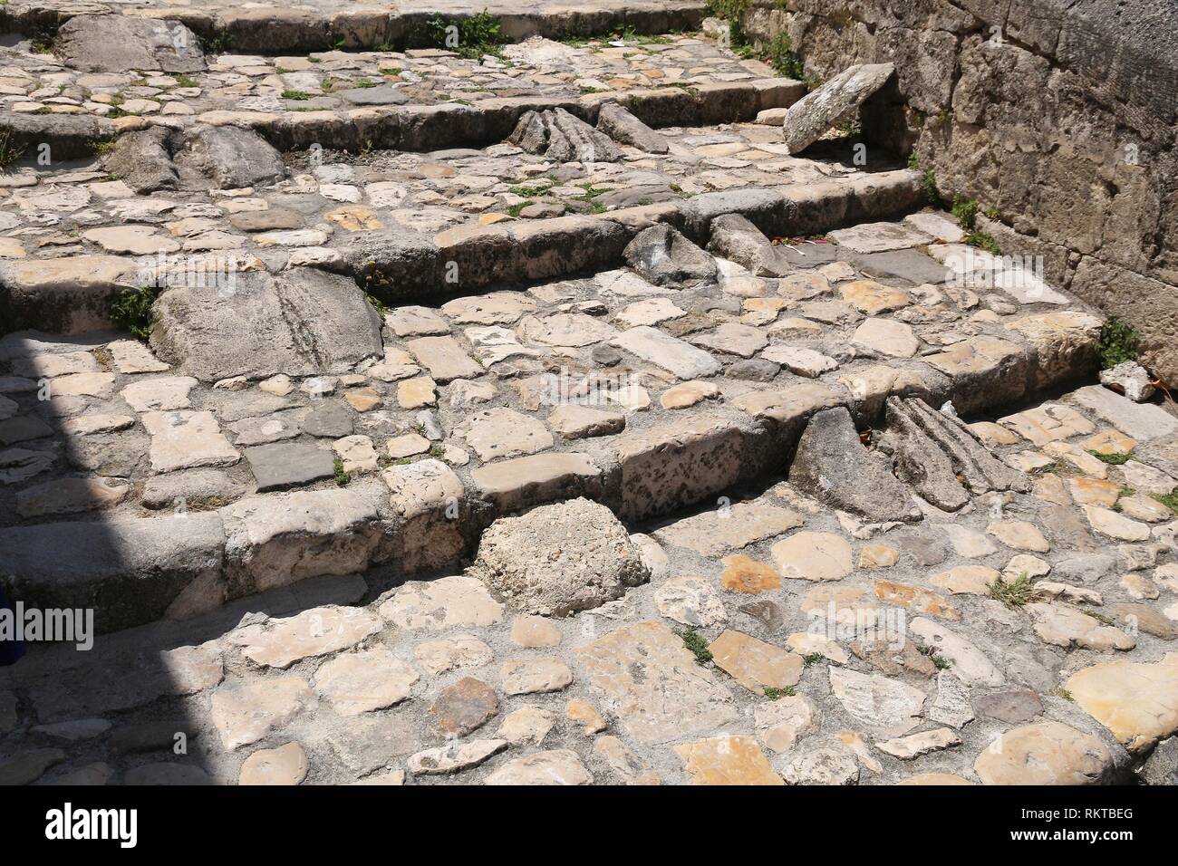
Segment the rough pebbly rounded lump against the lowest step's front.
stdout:
<svg viewBox="0 0 1178 866">
<path fill-rule="evenodd" d="M 583 498 L 497 520 L 474 573 L 517 610 L 544 616 L 598 607 L 650 577 L 626 527 Z"/>
</svg>

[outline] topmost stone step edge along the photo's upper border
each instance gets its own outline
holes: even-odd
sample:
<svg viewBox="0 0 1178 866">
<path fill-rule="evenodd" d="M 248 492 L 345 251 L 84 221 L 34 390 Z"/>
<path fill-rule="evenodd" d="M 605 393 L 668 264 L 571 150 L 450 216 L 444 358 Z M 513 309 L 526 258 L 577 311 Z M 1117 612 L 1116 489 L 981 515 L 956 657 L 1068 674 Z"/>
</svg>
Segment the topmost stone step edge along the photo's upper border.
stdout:
<svg viewBox="0 0 1178 866">
<path fill-rule="evenodd" d="M 144 15 L 180 21 L 201 39 L 227 41 L 234 52 L 279 53 L 344 48 L 352 51 L 434 48 L 437 45 L 428 22 L 442 15 L 448 21 L 469 18 L 487 7 L 499 18 L 501 32 L 510 42 L 529 37 L 563 39 L 600 37 L 631 28 L 642 35 L 674 31 L 697 31 L 707 16 L 702 2 L 659 2 L 634 8 L 622 0 L 602 0 L 593 8 L 562 6 L 554 9 L 521 8 L 516 4 L 476 4 L 462 12 L 454 6 L 421 4 L 412 11 L 388 8 L 320 11 L 307 8 L 165 8 L 111 9 L 110 14 Z M 115 7 L 117 8 L 117 7 Z M 52 35 L 74 15 L 101 9 L 65 8 L 57 4 L 29 2 L 0 8 L 0 32 Z"/>
</svg>

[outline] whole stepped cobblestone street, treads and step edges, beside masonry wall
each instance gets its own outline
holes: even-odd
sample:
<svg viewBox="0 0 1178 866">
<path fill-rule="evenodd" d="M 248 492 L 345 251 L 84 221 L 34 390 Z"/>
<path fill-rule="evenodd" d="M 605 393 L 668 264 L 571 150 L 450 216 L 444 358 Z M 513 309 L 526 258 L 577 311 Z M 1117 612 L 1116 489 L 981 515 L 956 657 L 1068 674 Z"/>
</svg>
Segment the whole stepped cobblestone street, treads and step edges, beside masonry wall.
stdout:
<svg viewBox="0 0 1178 866">
<path fill-rule="evenodd" d="M 0 669 L 0 782 L 1172 773 L 1172 408 L 871 130 L 629 39 L 4 49 L 99 139 L 0 178 L 0 550 L 99 634 Z"/>
</svg>

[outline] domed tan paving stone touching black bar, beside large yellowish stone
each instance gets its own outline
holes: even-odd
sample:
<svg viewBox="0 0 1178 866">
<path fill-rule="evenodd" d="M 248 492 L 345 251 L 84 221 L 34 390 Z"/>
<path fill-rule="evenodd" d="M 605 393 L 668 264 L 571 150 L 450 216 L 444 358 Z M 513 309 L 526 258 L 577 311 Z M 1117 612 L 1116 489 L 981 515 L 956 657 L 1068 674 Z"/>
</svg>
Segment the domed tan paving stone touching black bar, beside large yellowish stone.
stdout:
<svg viewBox="0 0 1178 866">
<path fill-rule="evenodd" d="M 1055 721 L 1007 731 L 974 762 L 984 785 L 1098 785 L 1111 769 L 1100 740 Z"/>
</svg>

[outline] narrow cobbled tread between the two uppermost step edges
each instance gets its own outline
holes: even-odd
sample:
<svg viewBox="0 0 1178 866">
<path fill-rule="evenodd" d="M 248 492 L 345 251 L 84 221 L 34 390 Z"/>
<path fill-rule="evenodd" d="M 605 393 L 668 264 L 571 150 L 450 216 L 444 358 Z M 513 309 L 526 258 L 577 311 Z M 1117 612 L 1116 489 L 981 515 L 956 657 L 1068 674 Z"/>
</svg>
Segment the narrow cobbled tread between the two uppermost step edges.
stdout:
<svg viewBox="0 0 1178 866">
<path fill-rule="evenodd" d="M 686 35 L 557 42 L 534 38 L 503 47 L 503 59 L 463 58 L 444 48 L 313 51 L 298 57 L 217 53 L 207 68 L 84 72 L 52 54 L 0 52 L 4 111 L 101 118 L 213 120 L 258 114 L 346 112 L 497 97 L 578 98 L 650 87 L 693 87 L 773 78 L 759 60 Z M 201 117 L 206 115 L 207 117 Z M 135 125 L 127 123 L 126 127 Z"/>
</svg>

